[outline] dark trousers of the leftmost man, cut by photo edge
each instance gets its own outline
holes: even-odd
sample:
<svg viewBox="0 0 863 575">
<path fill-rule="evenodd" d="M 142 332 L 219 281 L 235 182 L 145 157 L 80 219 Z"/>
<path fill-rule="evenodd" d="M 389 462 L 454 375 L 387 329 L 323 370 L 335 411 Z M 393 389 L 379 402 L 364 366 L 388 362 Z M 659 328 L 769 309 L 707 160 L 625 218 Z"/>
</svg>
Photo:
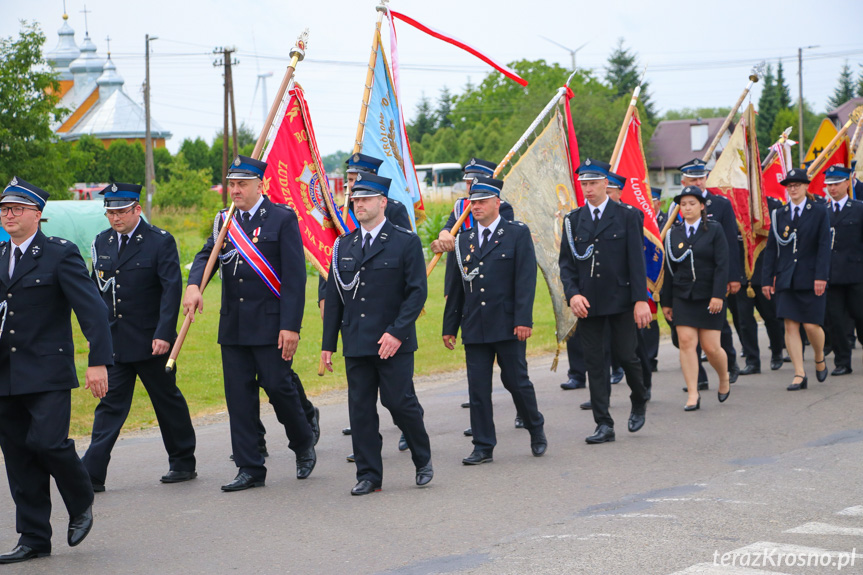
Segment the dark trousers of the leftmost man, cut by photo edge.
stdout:
<svg viewBox="0 0 863 575">
<path fill-rule="evenodd" d="M 69 516 L 93 504 L 93 485 L 69 439 L 71 392 L 0 397 L 0 448 L 15 502 L 19 545 L 51 551 L 51 477 Z"/>
</svg>

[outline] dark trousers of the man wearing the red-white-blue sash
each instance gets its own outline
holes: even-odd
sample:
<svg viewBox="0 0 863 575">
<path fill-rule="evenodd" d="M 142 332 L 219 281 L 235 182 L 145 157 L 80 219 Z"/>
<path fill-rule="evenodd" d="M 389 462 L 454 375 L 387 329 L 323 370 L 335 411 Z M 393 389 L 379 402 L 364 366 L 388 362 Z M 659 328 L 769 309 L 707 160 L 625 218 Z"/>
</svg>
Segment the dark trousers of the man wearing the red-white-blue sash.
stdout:
<svg viewBox="0 0 863 575">
<path fill-rule="evenodd" d="M 291 361 L 282 359 L 282 352 L 275 345 L 222 345 L 234 463 L 258 481 L 267 476 L 264 456 L 258 451 L 259 387 L 269 397 L 276 419 L 285 427 L 292 451 L 302 453 L 315 442 L 300 405 L 291 365 Z"/>
</svg>

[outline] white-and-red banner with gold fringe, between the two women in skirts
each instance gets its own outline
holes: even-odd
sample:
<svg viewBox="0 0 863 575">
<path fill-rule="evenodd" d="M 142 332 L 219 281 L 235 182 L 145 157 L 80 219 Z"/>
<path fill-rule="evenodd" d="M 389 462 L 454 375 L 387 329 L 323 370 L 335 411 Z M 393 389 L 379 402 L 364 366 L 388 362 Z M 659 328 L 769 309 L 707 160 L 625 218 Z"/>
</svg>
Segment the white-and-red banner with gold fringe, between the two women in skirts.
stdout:
<svg viewBox="0 0 863 575">
<path fill-rule="evenodd" d="M 761 192 L 761 160 L 755 139 L 755 108 L 746 108 L 731 139 L 707 177 L 707 189 L 728 198 L 743 237 L 746 279 L 752 278 L 755 259 L 767 245 L 770 215 Z M 736 251 L 729 246 L 729 253 Z M 753 297 L 753 296 L 750 296 Z"/>
</svg>

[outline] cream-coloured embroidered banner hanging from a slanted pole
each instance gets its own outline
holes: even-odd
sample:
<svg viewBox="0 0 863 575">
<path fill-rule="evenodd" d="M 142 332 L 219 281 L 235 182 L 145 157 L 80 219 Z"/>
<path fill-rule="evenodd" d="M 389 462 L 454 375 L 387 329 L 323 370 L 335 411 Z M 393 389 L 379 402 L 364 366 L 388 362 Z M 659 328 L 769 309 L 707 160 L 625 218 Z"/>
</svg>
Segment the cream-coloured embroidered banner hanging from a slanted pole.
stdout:
<svg viewBox="0 0 863 575">
<path fill-rule="evenodd" d="M 506 175 L 501 197 L 530 228 L 536 261 L 551 294 L 558 348 L 576 322 L 563 293 L 557 263 L 563 218 L 578 207 L 572 181 L 563 118 L 555 109 L 551 121 Z M 552 369 L 556 365 L 557 358 Z"/>
</svg>

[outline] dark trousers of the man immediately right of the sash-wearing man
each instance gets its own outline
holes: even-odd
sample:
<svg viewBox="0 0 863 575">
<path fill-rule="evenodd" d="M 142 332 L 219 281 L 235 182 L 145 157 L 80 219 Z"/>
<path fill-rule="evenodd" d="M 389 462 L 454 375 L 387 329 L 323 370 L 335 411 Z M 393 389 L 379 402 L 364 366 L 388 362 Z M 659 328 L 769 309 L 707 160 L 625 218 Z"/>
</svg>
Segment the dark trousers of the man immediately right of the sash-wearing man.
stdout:
<svg viewBox="0 0 863 575">
<path fill-rule="evenodd" d="M 423 408 L 414 391 L 414 354 L 397 353 L 389 359 L 377 355 L 345 358 L 348 378 L 348 414 L 351 442 L 357 464 L 357 481 L 383 482 L 383 440 L 378 417 L 378 393 L 393 422 L 405 436 L 414 466 L 431 461 L 431 445 L 423 423 Z"/>
</svg>

